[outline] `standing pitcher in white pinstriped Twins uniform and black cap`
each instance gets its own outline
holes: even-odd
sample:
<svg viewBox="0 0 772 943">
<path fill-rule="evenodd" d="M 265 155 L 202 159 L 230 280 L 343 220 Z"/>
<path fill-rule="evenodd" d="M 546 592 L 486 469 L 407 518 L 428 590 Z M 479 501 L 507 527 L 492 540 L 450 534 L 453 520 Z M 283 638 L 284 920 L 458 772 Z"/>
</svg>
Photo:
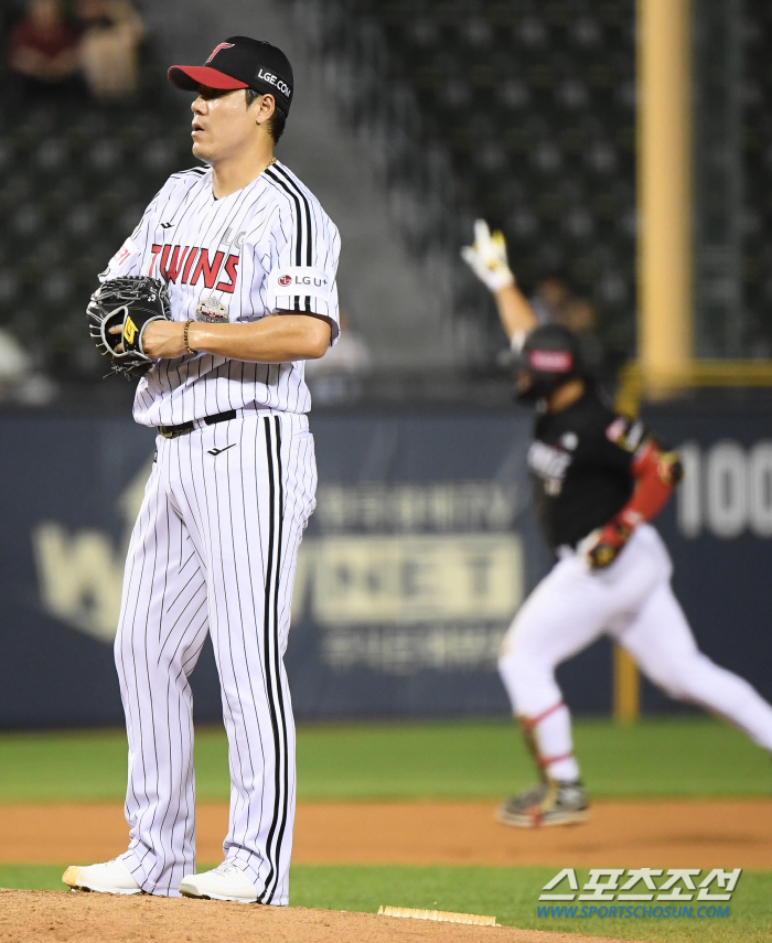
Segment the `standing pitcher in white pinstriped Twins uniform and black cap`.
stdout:
<svg viewBox="0 0 772 943">
<path fill-rule="evenodd" d="M 172 66 L 169 78 L 195 95 L 193 153 L 207 167 L 169 179 L 101 276 L 120 286 L 127 276 L 158 279 L 171 309 L 171 320 L 141 332 L 151 368 L 133 415 L 158 430 L 158 453 L 115 644 L 130 843 L 112 861 L 69 868 L 64 881 L 287 904 L 296 779 L 283 654 L 317 485 L 303 361 L 337 336 L 340 239 L 274 157 L 293 94 L 280 50 L 230 36 L 205 65 Z M 138 335 L 125 319 L 125 342 Z M 187 678 L 207 632 L 228 736 L 230 819 L 225 861 L 196 874 Z"/>
</svg>

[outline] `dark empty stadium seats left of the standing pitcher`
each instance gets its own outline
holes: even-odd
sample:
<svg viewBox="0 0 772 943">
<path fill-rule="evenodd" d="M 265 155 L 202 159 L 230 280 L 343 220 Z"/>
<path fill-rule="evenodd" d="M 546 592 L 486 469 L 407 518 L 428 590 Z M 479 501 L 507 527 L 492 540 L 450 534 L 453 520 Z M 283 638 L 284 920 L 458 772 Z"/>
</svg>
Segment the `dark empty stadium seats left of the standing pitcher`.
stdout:
<svg viewBox="0 0 772 943">
<path fill-rule="evenodd" d="M 163 180 L 191 164 L 180 105 L 159 90 L 129 118 L 88 101 L 11 101 L 10 111 L 0 133 L 0 324 L 51 372 L 96 379 L 103 365 L 83 351 L 88 296 Z"/>
</svg>

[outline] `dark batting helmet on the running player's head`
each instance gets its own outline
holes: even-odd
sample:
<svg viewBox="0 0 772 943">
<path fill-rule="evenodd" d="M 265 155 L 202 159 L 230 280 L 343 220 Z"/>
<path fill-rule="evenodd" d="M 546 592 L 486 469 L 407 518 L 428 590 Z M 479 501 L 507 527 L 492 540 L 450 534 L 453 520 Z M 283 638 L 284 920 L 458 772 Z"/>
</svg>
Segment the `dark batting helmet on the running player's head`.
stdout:
<svg viewBox="0 0 772 943">
<path fill-rule="evenodd" d="M 517 399 L 535 403 L 583 375 L 579 339 L 560 324 L 533 330 L 515 361 Z"/>
</svg>

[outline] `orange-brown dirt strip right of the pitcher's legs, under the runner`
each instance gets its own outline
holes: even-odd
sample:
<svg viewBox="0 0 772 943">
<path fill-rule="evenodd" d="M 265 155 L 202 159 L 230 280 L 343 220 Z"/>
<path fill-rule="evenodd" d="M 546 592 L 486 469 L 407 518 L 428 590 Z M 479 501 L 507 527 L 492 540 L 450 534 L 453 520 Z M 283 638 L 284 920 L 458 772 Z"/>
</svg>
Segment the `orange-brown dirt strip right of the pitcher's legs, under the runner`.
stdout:
<svg viewBox="0 0 772 943">
<path fill-rule="evenodd" d="M 298 864 L 770 868 L 772 802 L 597 802 L 587 824 L 511 828 L 481 802 L 309 803 Z M 219 860 L 219 859 L 217 859 Z"/>
</svg>

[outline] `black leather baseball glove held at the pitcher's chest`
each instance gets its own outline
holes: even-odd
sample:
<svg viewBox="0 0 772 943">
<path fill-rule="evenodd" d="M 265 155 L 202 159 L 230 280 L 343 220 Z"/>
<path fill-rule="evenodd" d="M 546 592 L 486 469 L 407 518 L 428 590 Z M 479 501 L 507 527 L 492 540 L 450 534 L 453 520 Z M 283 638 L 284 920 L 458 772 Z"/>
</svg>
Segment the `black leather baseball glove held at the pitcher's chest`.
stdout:
<svg viewBox="0 0 772 943">
<path fill-rule="evenodd" d="M 156 361 L 142 347 L 144 329 L 151 321 L 171 321 L 169 294 L 161 281 L 146 276 L 105 281 L 92 294 L 86 313 L 92 339 L 116 373 L 127 377 L 148 373 Z M 116 326 L 120 333 L 111 334 L 110 328 Z"/>
</svg>

